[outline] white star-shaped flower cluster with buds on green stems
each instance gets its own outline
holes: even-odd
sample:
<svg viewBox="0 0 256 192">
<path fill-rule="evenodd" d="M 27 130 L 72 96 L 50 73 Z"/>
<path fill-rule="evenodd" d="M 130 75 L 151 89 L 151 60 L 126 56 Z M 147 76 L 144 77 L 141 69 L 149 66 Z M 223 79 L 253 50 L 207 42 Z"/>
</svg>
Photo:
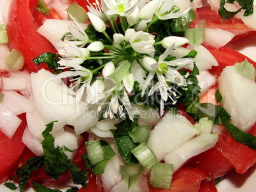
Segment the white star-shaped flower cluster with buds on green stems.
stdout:
<svg viewBox="0 0 256 192">
<path fill-rule="evenodd" d="M 178 36 L 167 36 L 156 42 L 155 34 L 148 32 L 157 20 L 169 20 L 187 15 L 190 8 L 180 10 L 178 0 L 102 0 L 90 4 L 89 20 L 94 29 L 101 33 L 105 41 L 95 41 L 83 31 L 74 20 L 69 26 L 70 34 L 60 41 L 60 69 L 71 69 L 59 74 L 71 78 L 71 88 L 77 89 L 77 97 L 88 105 L 97 104 L 98 111 L 104 111 L 104 118 L 124 118 L 125 113 L 132 120 L 129 95 L 134 92 L 134 73 L 131 69 L 139 65 L 146 76 L 139 82 L 141 96 L 146 90 L 148 96 L 160 93 L 160 113 L 163 114 L 167 99 L 176 103 L 180 97 L 177 87 L 186 89 L 188 73 L 183 76 L 178 71 L 193 64 L 193 58 L 180 58 L 166 61 L 171 51 L 188 42 Z M 72 18 L 72 16 L 71 16 Z M 111 29 L 111 35 L 106 29 Z M 155 46 L 166 49 L 156 55 Z M 89 69 L 85 62 L 97 60 L 103 63 Z M 96 77 L 96 81 L 93 80 Z M 152 86 L 152 81 L 156 82 Z"/>
</svg>

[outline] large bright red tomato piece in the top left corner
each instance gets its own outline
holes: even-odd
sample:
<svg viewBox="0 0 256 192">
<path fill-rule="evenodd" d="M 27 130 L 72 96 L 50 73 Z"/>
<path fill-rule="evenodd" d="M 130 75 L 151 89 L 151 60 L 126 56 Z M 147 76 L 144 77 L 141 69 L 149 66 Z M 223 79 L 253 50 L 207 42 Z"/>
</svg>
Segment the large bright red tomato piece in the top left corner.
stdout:
<svg viewBox="0 0 256 192">
<path fill-rule="evenodd" d="M 32 59 L 38 57 L 45 51 L 56 53 L 53 45 L 38 34 L 38 25 L 32 17 L 30 10 L 34 9 L 37 0 L 13 0 L 10 6 L 8 18 L 8 39 L 10 48 L 19 50 L 25 58 L 24 68 L 29 72 L 37 72 L 39 69 L 48 69 L 46 64 L 36 65 Z"/>
</svg>

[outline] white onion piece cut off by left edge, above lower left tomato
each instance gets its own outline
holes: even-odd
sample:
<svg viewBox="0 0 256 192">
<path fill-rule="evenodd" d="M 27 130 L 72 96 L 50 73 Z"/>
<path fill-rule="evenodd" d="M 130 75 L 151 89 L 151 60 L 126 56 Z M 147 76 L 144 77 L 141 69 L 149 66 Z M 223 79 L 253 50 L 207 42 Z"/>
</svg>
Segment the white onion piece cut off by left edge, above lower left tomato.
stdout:
<svg viewBox="0 0 256 192">
<path fill-rule="evenodd" d="M 21 122 L 20 118 L 0 104 L 0 130 L 3 134 L 9 138 L 13 137 Z"/>
</svg>

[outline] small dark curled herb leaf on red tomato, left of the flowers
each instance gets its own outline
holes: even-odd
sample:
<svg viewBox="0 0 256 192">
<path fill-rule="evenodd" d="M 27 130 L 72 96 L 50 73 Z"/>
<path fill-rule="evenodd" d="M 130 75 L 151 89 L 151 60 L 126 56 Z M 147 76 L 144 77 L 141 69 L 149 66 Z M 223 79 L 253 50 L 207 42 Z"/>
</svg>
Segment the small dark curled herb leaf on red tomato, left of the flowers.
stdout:
<svg viewBox="0 0 256 192">
<path fill-rule="evenodd" d="M 59 61 L 60 56 L 56 55 L 54 53 L 45 52 L 38 57 L 33 59 L 33 62 L 37 65 L 46 63 L 49 67 L 49 69 L 53 69 L 54 72 L 61 72 L 58 67 L 59 64 L 57 63 Z"/>
</svg>

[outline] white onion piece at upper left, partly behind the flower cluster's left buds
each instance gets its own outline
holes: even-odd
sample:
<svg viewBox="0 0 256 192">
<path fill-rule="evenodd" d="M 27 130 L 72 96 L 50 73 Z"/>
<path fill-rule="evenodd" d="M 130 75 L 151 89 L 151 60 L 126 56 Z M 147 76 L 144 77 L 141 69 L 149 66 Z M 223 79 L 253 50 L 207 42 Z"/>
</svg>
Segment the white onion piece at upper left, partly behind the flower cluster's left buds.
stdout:
<svg viewBox="0 0 256 192">
<path fill-rule="evenodd" d="M 38 33 L 44 36 L 46 39 L 55 46 L 57 42 L 64 36 L 66 32 L 69 32 L 68 26 L 73 22 L 70 20 L 60 19 L 46 19 L 43 25 L 39 27 Z M 83 30 L 86 29 L 87 24 L 80 24 Z"/>
</svg>

